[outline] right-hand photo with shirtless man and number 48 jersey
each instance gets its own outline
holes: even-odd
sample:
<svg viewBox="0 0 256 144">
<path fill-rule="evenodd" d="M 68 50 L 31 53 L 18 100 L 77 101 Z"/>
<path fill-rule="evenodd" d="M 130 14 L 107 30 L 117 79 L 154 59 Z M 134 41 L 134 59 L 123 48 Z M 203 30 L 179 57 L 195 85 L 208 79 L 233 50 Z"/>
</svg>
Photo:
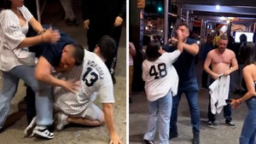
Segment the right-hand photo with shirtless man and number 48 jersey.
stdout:
<svg viewBox="0 0 256 144">
<path fill-rule="evenodd" d="M 129 143 L 255 144 L 256 3 L 128 9 Z"/>
</svg>

